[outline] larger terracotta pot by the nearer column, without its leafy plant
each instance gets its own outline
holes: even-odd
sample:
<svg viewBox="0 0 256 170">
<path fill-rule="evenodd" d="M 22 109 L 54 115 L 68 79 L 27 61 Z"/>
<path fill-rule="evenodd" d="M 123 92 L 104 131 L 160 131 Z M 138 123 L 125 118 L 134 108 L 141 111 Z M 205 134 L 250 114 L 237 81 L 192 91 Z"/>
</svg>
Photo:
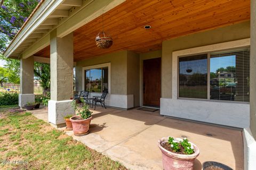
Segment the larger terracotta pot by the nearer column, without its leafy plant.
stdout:
<svg viewBox="0 0 256 170">
<path fill-rule="evenodd" d="M 89 126 L 90 126 L 91 120 L 92 120 L 92 117 L 87 119 L 82 119 L 81 116 L 70 117 L 74 134 L 77 136 L 82 136 L 89 133 Z"/>
</svg>

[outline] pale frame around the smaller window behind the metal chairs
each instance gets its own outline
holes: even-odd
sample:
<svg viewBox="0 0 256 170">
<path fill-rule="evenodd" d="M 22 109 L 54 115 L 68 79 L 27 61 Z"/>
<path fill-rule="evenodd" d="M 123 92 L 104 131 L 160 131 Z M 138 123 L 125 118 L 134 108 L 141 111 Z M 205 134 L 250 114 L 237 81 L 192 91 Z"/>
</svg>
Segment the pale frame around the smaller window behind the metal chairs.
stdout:
<svg viewBox="0 0 256 170">
<path fill-rule="evenodd" d="M 85 70 L 90 70 L 90 69 L 101 69 L 101 68 L 103 68 L 103 67 L 108 67 L 108 94 L 111 94 L 111 77 L 110 77 L 110 75 L 111 75 L 111 63 L 103 63 L 103 64 L 97 64 L 97 65 L 90 65 L 90 66 L 85 66 L 85 67 L 83 67 L 83 69 L 82 69 L 82 75 L 83 75 L 83 90 L 85 90 L 84 89 L 84 87 L 85 87 Z M 99 92 L 93 92 L 93 93 L 99 93 Z"/>
</svg>

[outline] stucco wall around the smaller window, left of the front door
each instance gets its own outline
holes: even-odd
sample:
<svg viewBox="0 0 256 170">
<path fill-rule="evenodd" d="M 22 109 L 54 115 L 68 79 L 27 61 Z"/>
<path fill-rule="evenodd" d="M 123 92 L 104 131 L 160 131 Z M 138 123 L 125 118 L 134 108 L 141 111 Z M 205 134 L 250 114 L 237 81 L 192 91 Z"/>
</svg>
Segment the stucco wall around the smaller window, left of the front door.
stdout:
<svg viewBox="0 0 256 170">
<path fill-rule="evenodd" d="M 78 61 L 76 90 L 83 90 L 83 67 L 110 63 L 110 94 L 106 105 L 120 108 L 139 106 L 139 54 L 122 51 Z M 97 96 L 90 93 L 90 97 Z"/>
</svg>

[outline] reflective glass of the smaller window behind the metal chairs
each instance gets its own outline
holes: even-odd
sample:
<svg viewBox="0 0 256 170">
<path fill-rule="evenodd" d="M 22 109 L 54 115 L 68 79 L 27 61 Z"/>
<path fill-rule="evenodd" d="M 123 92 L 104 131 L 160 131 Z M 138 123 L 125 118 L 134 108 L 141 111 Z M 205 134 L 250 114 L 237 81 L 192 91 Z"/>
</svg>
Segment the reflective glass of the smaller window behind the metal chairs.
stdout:
<svg viewBox="0 0 256 170">
<path fill-rule="evenodd" d="M 108 67 L 85 70 L 85 89 L 90 92 L 108 91 Z"/>
</svg>

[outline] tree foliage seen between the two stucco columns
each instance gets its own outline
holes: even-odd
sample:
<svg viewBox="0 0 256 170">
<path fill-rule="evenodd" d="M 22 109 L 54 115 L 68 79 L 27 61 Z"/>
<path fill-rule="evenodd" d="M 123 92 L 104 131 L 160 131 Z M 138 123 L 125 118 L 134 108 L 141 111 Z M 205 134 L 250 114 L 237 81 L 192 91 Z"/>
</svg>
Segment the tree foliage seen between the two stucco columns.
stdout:
<svg viewBox="0 0 256 170">
<path fill-rule="evenodd" d="M 46 95 L 47 91 L 50 90 L 50 64 L 35 62 L 34 74 L 35 79 L 39 80 L 43 88 L 43 94 Z"/>
</svg>

